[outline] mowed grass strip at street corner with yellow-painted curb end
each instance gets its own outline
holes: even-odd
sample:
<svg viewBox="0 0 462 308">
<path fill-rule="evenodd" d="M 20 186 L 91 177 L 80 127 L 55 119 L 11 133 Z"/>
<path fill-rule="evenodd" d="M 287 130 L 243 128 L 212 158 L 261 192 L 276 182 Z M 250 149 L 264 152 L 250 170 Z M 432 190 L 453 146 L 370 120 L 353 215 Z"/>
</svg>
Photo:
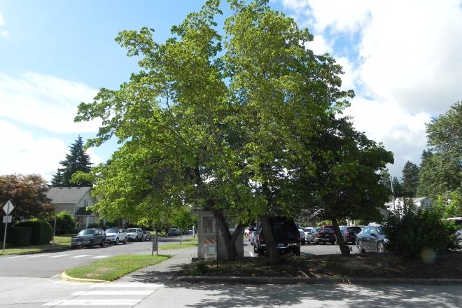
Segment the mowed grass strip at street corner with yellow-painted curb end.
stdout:
<svg viewBox="0 0 462 308">
<path fill-rule="evenodd" d="M 67 269 L 66 274 L 74 278 L 113 281 L 137 269 L 156 265 L 170 257 L 170 255 L 117 255 L 113 258 Z"/>
</svg>

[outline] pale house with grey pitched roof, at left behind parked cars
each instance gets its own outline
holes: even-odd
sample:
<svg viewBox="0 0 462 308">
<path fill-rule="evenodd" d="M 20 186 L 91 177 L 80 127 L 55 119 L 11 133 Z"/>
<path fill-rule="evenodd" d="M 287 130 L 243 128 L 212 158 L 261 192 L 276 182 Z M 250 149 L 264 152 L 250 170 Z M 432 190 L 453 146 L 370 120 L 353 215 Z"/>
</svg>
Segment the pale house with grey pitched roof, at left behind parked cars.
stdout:
<svg viewBox="0 0 462 308">
<path fill-rule="evenodd" d="M 94 204 L 91 191 L 91 187 L 52 187 L 46 195 L 57 213 L 68 211 L 74 217 L 76 228 L 85 229 L 90 223 L 99 223 L 99 215 L 87 209 Z"/>
</svg>

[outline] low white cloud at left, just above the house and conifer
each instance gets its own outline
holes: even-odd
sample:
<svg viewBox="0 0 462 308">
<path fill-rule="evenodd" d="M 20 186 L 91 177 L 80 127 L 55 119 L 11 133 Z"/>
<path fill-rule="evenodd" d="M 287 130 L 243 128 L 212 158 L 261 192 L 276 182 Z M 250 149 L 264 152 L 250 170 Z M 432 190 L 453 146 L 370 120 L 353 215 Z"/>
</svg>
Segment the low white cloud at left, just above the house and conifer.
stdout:
<svg viewBox="0 0 462 308">
<path fill-rule="evenodd" d="M 32 132 L 0 120 L 0 174 L 41 174 L 51 181 L 59 162 L 69 153 L 69 146 L 57 138 L 38 138 Z M 93 149 L 89 149 L 90 161 L 102 162 Z"/>
</svg>

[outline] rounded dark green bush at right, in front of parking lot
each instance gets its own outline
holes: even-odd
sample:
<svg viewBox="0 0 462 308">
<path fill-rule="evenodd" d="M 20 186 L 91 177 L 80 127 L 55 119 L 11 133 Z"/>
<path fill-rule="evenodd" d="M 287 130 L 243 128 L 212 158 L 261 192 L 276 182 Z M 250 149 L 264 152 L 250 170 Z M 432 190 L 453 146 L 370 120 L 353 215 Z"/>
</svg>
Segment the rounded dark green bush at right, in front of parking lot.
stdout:
<svg viewBox="0 0 462 308">
<path fill-rule="evenodd" d="M 388 216 L 385 235 L 386 248 L 407 258 L 418 258 L 423 253 L 442 253 L 454 241 L 454 223 L 442 219 L 435 209 L 407 207 L 400 214 Z"/>
</svg>

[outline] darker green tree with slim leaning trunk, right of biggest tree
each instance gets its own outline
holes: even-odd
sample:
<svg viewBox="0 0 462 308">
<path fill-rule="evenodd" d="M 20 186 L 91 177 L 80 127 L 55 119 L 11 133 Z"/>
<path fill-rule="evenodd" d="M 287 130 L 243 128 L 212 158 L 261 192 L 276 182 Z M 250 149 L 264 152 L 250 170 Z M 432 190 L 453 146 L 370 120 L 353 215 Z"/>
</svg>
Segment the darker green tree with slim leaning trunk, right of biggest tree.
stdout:
<svg viewBox="0 0 462 308">
<path fill-rule="evenodd" d="M 346 217 L 374 220 L 388 200 L 380 172 L 393 163 L 393 154 L 353 129 L 348 118 L 332 118 L 310 139 L 314 176 L 300 169 L 298 186 L 308 209 L 332 221 L 342 255 L 349 255 L 338 221 Z M 301 164 L 300 164 L 301 165 Z"/>
</svg>

